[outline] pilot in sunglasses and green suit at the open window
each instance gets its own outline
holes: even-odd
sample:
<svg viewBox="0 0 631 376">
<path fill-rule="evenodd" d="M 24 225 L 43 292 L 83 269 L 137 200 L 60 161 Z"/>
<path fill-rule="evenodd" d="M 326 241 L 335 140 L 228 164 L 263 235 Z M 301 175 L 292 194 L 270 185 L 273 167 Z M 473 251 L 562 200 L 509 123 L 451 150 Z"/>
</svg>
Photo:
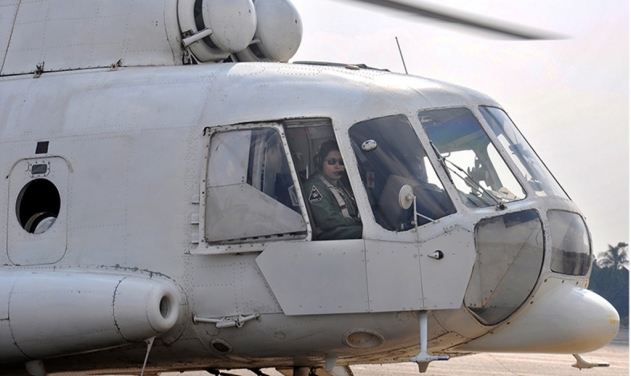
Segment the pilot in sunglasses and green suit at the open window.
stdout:
<svg viewBox="0 0 631 376">
<path fill-rule="evenodd" d="M 361 239 L 362 223 L 352 192 L 344 188 L 344 161 L 335 140 L 322 143 L 314 162 L 318 173 L 307 182 L 317 239 Z"/>
</svg>

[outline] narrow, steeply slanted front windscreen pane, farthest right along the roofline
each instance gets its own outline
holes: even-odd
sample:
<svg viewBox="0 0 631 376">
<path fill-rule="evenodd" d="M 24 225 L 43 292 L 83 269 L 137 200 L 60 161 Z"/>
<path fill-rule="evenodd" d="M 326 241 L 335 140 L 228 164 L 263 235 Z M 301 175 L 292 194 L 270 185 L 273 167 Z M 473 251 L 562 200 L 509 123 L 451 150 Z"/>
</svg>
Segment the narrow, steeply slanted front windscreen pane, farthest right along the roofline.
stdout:
<svg viewBox="0 0 631 376">
<path fill-rule="evenodd" d="M 504 111 L 495 107 L 480 107 L 480 112 L 537 196 L 568 198 Z"/>
</svg>

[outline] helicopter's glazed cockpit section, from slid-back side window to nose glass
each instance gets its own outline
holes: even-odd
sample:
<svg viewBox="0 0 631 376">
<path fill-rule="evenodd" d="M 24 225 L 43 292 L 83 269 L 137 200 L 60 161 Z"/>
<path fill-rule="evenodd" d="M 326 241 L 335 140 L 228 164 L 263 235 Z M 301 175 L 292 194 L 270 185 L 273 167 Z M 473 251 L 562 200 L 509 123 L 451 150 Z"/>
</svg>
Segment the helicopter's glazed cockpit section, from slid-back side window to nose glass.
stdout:
<svg viewBox="0 0 631 376">
<path fill-rule="evenodd" d="M 566 276 L 589 271 L 583 217 L 499 108 L 419 110 L 348 128 L 329 118 L 288 119 L 206 134 L 201 242 L 218 253 L 235 244 L 345 241 L 319 237 L 309 202 L 318 197 L 307 188 L 318 173 L 314 157 L 333 140 L 348 172 L 340 189 L 357 198 L 366 247 L 383 234 L 422 248 L 431 228 L 471 233 L 475 262 L 463 300 L 481 323 L 499 323 L 524 304 L 544 265 Z M 402 205 L 403 191 L 413 207 Z"/>
</svg>

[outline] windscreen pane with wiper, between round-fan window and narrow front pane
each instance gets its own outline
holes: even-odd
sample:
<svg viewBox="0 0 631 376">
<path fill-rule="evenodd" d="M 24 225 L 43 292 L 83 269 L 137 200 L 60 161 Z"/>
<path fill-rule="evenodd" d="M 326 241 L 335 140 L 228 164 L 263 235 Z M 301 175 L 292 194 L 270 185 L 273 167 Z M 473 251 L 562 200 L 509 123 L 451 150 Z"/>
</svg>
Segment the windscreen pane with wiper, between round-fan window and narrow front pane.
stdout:
<svg viewBox="0 0 631 376">
<path fill-rule="evenodd" d="M 418 117 L 468 207 L 501 206 L 526 197 L 470 110 L 428 110 Z"/>
</svg>

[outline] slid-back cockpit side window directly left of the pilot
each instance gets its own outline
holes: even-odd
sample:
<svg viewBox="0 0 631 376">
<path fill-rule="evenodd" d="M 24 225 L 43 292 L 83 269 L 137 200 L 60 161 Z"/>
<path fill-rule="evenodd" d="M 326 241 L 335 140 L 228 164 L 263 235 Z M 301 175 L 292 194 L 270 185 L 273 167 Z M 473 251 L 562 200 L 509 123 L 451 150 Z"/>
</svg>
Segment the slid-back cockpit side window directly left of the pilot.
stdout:
<svg viewBox="0 0 631 376">
<path fill-rule="evenodd" d="M 207 243 L 306 236 L 307 225 L 275 128 L 212 133 L 206 197 Z"/>
</svg>

